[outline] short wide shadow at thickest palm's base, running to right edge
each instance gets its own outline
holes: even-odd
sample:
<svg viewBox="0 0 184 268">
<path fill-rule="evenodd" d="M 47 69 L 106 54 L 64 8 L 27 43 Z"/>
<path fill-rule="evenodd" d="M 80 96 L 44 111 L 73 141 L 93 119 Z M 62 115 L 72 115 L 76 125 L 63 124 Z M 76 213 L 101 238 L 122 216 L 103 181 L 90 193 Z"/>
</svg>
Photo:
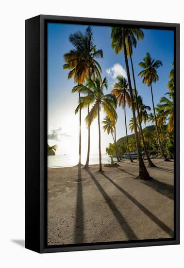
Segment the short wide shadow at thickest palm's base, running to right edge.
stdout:
<svg viewBox="0 0 184 268">
<path fill-rule="evenodd" d="M 161 193 L 162 195 L 165 195 L 169 199 L 174 199 L 174 187 L 173 185 L 158 181 L 156 179 L 151 179 L 147 181 L 141 181 L 145 185 L 153 188 L 155 191 Z"/>
</svg>

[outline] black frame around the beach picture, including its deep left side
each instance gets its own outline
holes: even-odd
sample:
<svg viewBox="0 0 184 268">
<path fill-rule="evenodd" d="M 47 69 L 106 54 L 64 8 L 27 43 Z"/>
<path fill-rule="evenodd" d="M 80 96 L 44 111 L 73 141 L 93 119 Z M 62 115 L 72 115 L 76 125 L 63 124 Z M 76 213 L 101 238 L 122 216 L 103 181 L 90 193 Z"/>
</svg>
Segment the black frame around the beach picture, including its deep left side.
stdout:
<svg viewBox="0 0 184 268">
<path fill-rule="evenodd" d="M 47 23 L 174 30 L 174 238 L 47 246 Z M 180 24 L 39 15 L 25 21 L 25 247 L 39 253 L 91 249 L 117 249 L 180 243 Z"/>
</svg>

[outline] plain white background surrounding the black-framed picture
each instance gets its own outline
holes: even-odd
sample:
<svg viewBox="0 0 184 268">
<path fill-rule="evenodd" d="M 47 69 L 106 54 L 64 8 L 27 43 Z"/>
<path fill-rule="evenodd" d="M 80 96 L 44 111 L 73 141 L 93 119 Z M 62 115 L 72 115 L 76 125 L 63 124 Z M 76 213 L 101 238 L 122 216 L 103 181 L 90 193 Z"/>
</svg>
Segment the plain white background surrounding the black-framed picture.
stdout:
<svg viewBox="0 0 184 268">
<path fill-rule="evenodd" d="M 24 249 L 24 20 L 39 14 L 181 23 L 181 103 L 184 100 L 184 9 L 181 0 L 6 0 L 0 7 L 0 265 L 6 267 L 183 267 L 181 245 L 38 254 Z M 159 41 L 159 40 L 158 40 Z M 184 160 L 181 105 L 181 160 Z M 182 162 L 182 161 L 181 161 Z M 181 166 L 181 173 L 184 171 Z"/>
</svg>

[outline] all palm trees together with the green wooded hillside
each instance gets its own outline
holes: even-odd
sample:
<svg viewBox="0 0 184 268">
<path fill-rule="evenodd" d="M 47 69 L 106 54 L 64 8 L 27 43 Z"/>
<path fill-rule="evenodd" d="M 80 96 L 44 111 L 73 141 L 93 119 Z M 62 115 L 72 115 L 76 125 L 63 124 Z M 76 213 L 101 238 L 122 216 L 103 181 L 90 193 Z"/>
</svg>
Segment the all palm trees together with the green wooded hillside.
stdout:
<svg viewBox="0 0 184 268">
<path fill-rule="evenodd" d="M 81 165 L 81 113 L 87 108 L 85 124 L 88 129 L 88 145 L 85 168 L 89 167 L 90 157 L 90 126 L 97 118 L 99 138 L 99 171 L 102 171 L 101 161 L 101 123 L 105 133 L 112 135 L 114 143 L 109 143 L 106 153 L 116 156 L 117 161 L 128 155 L 131 162 L 132 153 L 137 155 L 139 163 L 139 178 L 148 180 L 150 174 L 144 160 L 149 167 L 154 167 L 151 158 L 161 157 L 165 161 L 174 157 L 174 64 L 168 74 L 165 96 L 155 106 L 153 96 L 153 83 L 159 80 L 157 70 L 163 66 L 161 60 L 151 57 L 149 52 L 138 66 L 142 69 L 137 76 L 142 78 L 142 83 L 151 89 L 152 107 L 144 103 L 139 95 L 134 72 L 133 55 L 136 53 L 137 41 L 144 39 L 144 33 L 140 28 L 111 27 L 111 46 L 115 54 L 122 55 L 126 67 L 126 77 L 117 76 L 111 94 L 105 94 L 108 88 L 107 78 L 102 79 L 102 70 L 98 62 L 103 58 L 101 49 L 97 49 L 94 43 L 91 27 L 87 27 L 84 33 L 70 34 L 69 41 L 73 48 L 64 54 L 64 69 L 69 70 L 68 79 L 73 78 L 75 86 L 72 93 L 77 93 L 78 104 L 75 114 L 79 113 L 79 163 Z M 133 54 L 134 52 L 134 54 Z M 133 85 L 133 86 L 132 86 Z M 124 110 L 122 116 L 117 118 L 117 105 Z M 132 118 L 127 123 L 127 109 L 132 111 Z M 103 119 L 100 112 L 105 113 Z M 117 140 L 116 129 L 119 120 L 124 120 L 126 136 Z M 133 133 L 128 135 L 127 124 Z M 145 126 L 143 128 L 143 126 Z M 124 130 L 122 130 L 123 132 Z M 53 150 L 53 149 L 52 149 Z M 114 160 L 113 160 L 114 161 Z"/>
</svg>

